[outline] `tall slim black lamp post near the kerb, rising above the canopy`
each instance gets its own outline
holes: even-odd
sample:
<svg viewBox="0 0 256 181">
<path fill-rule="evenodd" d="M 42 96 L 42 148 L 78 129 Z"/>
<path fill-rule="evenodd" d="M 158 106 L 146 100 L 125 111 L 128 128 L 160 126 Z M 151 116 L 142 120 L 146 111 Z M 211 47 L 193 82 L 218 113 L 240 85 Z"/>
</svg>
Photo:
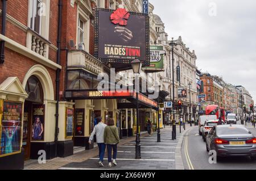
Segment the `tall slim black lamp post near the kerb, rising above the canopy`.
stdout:
<svg viewBox="0 0 256 181">
<path fill-rule="evenodd" d="M 174 42 L 174 38 L 172 37 L 172 41 L 170 43 L 172 47 L 172 112 L 173 112 L 173 119 L 172 119 L 172 140 L 176 139 L 176 121 L 175 121 L 175 113 L 174 113 L 174 47 L 176 43 Z M 171 65 L 171 58 L 170 58 L 170 65 Z M 171 99 L 171 86 L 170 86 L 170 99 Z"/>
</svg>

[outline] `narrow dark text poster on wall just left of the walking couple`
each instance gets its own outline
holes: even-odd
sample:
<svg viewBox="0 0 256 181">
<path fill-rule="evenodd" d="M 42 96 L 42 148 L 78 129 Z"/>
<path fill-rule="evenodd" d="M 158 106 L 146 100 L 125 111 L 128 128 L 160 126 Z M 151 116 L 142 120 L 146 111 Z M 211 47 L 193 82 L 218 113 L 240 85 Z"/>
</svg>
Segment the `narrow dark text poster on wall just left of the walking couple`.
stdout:
<svg viewBox="0 0 256 181">
<path fill-rule="evenodd" d="M 75 136 L 84 136 L 84 109 L 75 109 Z"/>
</svg>

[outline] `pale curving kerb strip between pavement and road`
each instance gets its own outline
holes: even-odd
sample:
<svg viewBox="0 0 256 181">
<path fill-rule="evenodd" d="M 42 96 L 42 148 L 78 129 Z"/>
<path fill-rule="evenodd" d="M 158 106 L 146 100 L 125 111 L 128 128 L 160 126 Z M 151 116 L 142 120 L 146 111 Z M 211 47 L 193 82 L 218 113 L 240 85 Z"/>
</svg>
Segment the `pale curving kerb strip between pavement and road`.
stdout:
<svg viewBox="0 0 256 181">
<path fill-rule="evenodd" d="M 191 129 L 193 129 L 193 127 Z M 191 129 L 187 129 L 186 131 L 181 133 L 180 139 L 177 143 L 177 146 L 175 149 L 175 170 L 185 170 L 185 167 L 183 165 L 181 146 L 183 144 L 184 135 Z"/>
</svg>

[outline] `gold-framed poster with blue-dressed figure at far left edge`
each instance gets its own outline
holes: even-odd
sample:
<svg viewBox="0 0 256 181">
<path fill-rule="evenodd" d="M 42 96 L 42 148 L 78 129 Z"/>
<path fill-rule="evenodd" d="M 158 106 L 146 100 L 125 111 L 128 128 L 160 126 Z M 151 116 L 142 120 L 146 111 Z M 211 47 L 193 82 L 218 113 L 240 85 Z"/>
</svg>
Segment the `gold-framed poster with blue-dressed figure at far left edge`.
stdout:
<svg viewBox="0 0 256 181">
<path fill-rule="evenodd" d="M 20 153 L 22 103 L 0 100 L 0 157 Z"/>
</svg>

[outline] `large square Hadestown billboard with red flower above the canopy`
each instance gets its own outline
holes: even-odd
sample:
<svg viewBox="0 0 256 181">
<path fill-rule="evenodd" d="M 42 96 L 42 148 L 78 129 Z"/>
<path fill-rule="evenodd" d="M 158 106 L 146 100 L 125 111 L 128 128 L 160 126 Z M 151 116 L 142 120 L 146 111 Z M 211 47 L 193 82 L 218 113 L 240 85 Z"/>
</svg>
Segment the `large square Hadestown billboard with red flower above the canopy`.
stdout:
<svg viewBox="0 0 256 181">
<path fill-rule="evenodd" d="M 126 9 L 96 9 L 94 56 L 110 64 L 130 64 L 138 58 L 150 64 L 149 18 Z"/>
</svg>

